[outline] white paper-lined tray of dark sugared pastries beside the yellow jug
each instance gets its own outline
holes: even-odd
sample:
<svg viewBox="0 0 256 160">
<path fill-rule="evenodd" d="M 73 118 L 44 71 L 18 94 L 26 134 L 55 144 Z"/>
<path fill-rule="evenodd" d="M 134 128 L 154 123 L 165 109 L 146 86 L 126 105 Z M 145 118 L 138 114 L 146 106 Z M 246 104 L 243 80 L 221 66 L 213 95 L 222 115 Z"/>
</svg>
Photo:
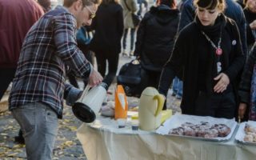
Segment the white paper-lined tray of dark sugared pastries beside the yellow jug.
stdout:
<svg viewBox="0 0 256 160">
<path fill-rule="evenodd" d="M 232 137 L 237 122 L 234 119 L 192 115 L 174 115 L 157 130 L 158 134 L 196 138 L 210 141 L 226 141 Z"/>
</svg>

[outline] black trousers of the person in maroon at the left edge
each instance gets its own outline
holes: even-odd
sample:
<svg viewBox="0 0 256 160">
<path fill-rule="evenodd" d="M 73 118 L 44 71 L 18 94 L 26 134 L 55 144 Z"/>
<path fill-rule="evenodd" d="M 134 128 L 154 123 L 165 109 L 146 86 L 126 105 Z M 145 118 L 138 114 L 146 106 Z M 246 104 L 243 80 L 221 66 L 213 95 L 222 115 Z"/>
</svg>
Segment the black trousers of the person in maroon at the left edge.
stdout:
<svg viewBox="0 0 256 160">
<path fill-rule="evenodd" d="M 5 94 L 10 82 L 13 81 L 16 68 L 1 68 L 0 69 L 0 100 Z"/>
</svg>

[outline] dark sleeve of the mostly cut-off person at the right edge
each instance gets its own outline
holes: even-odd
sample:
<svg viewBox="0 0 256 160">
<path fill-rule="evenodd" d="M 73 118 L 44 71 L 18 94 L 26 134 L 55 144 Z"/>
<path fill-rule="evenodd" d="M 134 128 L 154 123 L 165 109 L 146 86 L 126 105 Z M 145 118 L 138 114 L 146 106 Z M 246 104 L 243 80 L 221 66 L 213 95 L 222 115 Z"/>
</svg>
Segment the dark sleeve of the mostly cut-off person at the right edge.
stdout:
<svg viewBox="0 0 256 160">
<path fill-rule="evenodd" d="M 250 87 L 251 87 L 251 78 L 254 71 L 254 65 L 256 62 L 256 45 L 254 44 L 254 49 L 250 52 L 249 57 L 247 58 L 246 65 L 242 72 L 242 79 L 239 85 L 238 95 L 241 102 L 249 104 L 250 102 Z"/>
</svg>

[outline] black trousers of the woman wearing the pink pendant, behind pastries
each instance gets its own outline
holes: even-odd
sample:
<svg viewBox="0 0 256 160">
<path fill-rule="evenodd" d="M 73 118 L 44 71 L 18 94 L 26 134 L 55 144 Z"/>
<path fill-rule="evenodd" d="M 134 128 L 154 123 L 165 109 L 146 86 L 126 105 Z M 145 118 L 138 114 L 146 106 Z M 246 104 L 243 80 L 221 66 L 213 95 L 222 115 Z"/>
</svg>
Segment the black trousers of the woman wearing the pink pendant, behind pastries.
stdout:
<svg viewBox="0 0 256 160">
<path fill-rule="evenodd" d="M 195 106 L 195 114 L 200 116 L 234 118 L 236 109 L 234 92 L 224 92 L 212 96 L 208 96 L 204 92 L 199 92 Z"/>
</svg>

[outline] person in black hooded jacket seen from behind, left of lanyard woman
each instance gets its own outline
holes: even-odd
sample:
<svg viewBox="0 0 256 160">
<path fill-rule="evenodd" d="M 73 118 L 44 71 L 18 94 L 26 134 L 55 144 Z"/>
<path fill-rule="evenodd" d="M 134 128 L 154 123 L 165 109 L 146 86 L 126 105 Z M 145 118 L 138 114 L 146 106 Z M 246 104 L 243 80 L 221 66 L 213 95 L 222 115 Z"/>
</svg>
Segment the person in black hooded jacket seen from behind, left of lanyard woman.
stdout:
<svg viewBox="0 0 256 160">
<path fill-rule="evenodd" d="M 158 87 L 162 66 L 170 57 L 178 30 L 179 11 L 176 0 L 159 0 L 138 27 L 134 55 L 146 70 L 148 86 Z"/>
</svg>

